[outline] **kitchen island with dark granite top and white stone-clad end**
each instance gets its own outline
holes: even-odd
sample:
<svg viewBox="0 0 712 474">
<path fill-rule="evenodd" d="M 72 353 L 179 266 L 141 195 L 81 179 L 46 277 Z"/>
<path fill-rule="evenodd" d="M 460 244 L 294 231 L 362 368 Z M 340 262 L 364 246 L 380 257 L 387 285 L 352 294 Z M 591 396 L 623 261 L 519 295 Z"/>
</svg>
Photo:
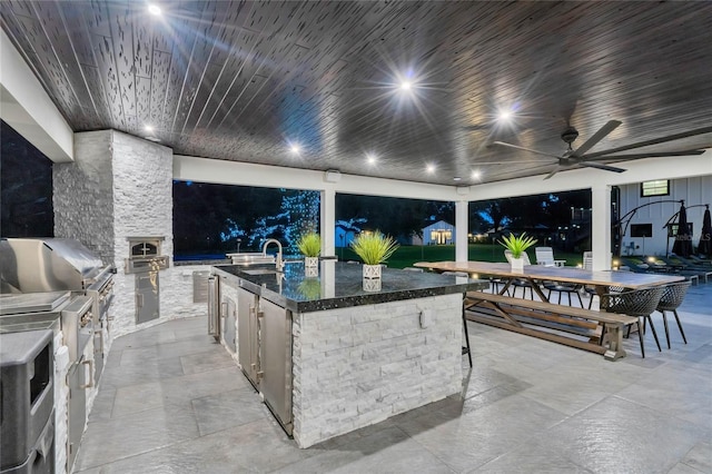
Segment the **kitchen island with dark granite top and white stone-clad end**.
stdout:
<svg viewBox="0 0 712 474">
<path fill-rule="evenodd" d="M 308 273 L 308 270 L 307 270 Z M 300 447 L 461 393 L 463 296 L 487 283 L 320 261 L 212 268 L 216 337 Z"/>
</svg>

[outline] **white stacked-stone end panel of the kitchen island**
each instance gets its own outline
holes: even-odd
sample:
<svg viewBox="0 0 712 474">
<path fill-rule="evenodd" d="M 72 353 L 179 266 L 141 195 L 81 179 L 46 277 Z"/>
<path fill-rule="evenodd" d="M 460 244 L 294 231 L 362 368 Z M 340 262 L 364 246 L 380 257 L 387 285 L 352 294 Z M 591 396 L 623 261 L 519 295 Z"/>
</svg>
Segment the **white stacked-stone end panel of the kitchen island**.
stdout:
<svg viewBox="0 0 712 474">
<path fill-rule="evenodd" d="M 294 315 L 294 437 L 309 447 L 462 391 L 462 295 Z M 421 327 L 421 312 L 431 320 Z"/>
</svg>

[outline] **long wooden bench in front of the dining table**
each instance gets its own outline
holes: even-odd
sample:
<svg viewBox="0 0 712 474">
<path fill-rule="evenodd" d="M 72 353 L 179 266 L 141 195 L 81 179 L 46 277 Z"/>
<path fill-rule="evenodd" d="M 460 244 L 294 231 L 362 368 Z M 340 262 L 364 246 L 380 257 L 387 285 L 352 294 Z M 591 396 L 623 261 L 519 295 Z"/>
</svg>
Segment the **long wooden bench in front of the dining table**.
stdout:
<svg viewBox="0 0 712 474">
<path fill-rule="evenodd" d="M 607 359 L 625 356 L 623 329 L 639 325 L 634 316 L 483 292 L 466 294 L 465 310 L 469 320 L 603 354 Z"/>
</svg>

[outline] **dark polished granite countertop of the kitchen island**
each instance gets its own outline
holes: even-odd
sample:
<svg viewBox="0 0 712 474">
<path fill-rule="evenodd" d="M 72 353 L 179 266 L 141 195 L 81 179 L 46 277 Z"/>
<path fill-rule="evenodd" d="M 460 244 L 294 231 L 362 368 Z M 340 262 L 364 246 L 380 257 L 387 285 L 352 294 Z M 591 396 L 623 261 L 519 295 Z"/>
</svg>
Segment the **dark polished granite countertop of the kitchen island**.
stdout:
<svg viewBox="0 0 712 474">
<path fill-rule="evenodd" d="M 306 277 L 303 263 L 287 264 L 284 274 L 250 275 L 246 271 L 274 269 L 274 265 L 220 265 L 214 273 L 235 278 L 236 285 L 295 313 L 310 313 L 350 306 L 375 305 L 403 299 L 484 289 L 487 282 L 384 268 L 379 292 L 363 287 L 360 265 L 334 260 L 319 263 L 319 276 Z"/>
</svg>

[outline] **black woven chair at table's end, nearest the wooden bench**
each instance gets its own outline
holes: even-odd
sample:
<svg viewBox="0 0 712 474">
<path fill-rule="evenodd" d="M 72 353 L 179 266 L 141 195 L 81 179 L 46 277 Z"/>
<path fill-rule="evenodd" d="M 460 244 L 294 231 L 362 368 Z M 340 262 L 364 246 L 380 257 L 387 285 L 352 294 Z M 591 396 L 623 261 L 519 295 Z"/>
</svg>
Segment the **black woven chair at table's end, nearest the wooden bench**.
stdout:
<svg viewBox="0 0 712 474">
<path fill-rule="evenodd" d="M 629 316 L 637 316 L 637 336 L 641 342 L 641 355 L 645 357 L 645 346 L 643 345 L 643 324 L 645 320 L 650 323 L 651 332 L 655 338 L 657 350 L 660 348 L 660 340 L 657 340 L 657 333 L 653 320 L 650 315 L 657 308 L 660 298 L 665 290 L 664 286 L 657 286 L 653 288 L 633 289 L 630 292 L 621 293 L 606 293 L 601 295 L 601 309 L 605 309 L 609 313 L 626 314 Z"/>
</svg>

